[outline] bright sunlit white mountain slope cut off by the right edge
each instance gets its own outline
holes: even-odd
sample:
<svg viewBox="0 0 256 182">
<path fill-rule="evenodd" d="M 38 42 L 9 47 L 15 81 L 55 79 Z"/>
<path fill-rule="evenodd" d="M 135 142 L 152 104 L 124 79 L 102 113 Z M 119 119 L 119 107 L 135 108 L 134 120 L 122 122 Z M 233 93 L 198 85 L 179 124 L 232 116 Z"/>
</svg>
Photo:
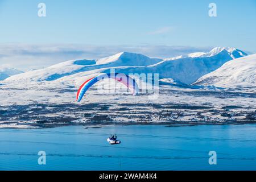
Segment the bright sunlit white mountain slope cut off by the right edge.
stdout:
<svg viewBox="0 0 256 182">
<path fill-rule="evenodd" d="M 214 85 L 224 88 L 256 87 L 256 54 L 228 61 L 199 78 L 193 85 Z"/>
</svg>

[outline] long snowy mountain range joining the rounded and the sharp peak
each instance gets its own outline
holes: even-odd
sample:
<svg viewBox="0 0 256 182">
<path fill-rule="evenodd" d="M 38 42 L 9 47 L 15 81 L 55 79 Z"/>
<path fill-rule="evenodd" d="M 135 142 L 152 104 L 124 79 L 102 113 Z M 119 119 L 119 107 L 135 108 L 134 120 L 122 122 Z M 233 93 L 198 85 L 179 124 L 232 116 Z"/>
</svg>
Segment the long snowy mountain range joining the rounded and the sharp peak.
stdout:
<svg viewBox="0 0 256 182">
<path fill-rule="evenodd" d="M 85 76 L 109 72 L 115 68 L 122 73 L 159 73 L 159 78 L 192 84 L 201 76 L 215 71 L 227 61 L 245 56 L 236 48 L 218 47 L 203 53 L 191 53 L 170 59 L 153 59 L 137 53 L 121 52 L 99 60 L 70 60 L 51 67 L 12 76 L 6 81 L 53 81 L 77 82 Z"/>
</svg>

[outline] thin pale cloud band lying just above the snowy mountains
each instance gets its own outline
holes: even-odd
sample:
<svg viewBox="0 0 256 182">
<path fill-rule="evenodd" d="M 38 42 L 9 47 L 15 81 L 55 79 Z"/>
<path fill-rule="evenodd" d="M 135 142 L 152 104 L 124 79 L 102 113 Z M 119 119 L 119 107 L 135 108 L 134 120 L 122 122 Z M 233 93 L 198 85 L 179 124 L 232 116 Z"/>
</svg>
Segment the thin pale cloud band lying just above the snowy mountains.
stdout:
<svg viewBox="0 0 256 182">
<path fill-rule="evenodd" d="M 155 46 L 92 46 L 81 44 L 0 44 L 0 67 L 28 71 L 45 68 L 72 59 L 100 59 L 118 52 L 141 53 L 148 57 L 168 58 L 191 52 L 208 52 L 212 47 Z"/>
</svg>

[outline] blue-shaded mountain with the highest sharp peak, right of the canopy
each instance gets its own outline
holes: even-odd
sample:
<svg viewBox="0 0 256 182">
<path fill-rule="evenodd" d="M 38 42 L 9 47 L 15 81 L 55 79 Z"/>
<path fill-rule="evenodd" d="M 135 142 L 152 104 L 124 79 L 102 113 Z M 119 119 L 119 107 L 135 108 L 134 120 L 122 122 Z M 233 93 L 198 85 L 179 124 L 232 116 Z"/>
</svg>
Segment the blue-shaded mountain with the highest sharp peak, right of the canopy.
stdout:
<svg viewBox="0 0 256 182">
<path fill-rule="evenodd" d="M 185 84 L 192 84 L 201 76 L 220 68 L 227 61 L 245 56 L 235 48 L 214 48 L 208 53 L 192 53 L 165 59 L 148 67 L 118 69 L 124 73 L 159 73 L 160 78 L 172 78 Z"/>
</svg>

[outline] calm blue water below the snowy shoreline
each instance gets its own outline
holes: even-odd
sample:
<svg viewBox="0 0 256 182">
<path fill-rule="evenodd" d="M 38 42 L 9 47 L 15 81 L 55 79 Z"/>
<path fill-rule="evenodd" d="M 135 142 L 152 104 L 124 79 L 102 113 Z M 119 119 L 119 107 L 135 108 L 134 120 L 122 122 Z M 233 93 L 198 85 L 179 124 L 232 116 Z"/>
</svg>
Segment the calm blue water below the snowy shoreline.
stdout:
<svg viewBox="0 0 256 182">
<path fill-rule="evenodd" d="M 117 133 L 119 145 L 106 138 Z M 46 151 L 39 165 L 38 151 Z M 209 165 L 208 152 L 217 152 Z M 252 170 L 256 125 L 0 129 L 1 170 Z"/>
</svg>

